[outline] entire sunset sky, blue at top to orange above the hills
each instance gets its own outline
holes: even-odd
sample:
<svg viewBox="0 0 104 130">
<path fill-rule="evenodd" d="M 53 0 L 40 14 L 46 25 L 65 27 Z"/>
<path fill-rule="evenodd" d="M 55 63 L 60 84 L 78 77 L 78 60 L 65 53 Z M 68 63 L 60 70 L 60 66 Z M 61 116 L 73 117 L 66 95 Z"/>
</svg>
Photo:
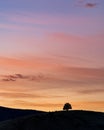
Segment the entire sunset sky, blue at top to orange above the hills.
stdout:
<svg viewBox="0 0 104 130">
<path fill-rule="evenodd" d="M 0 1 L 0 106 L 104 112 L 104 1 Z"/>
</svg>

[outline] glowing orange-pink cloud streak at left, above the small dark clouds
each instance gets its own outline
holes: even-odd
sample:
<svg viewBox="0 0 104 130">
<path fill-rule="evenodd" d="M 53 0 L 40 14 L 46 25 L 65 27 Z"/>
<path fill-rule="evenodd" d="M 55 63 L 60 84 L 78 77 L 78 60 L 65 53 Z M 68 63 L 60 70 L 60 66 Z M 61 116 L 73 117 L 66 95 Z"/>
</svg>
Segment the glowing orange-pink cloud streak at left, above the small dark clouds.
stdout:
<svg viewBox="0 0 104 130">
<path fill-rule="evenodd" d="M 41 60 L 42 59 L 42 60 Z M 18 58 L 8 58 L 8 57 L 0 57 L 0 66 L 8 67 L 16 67 L 16 68 L 30 68 L 30 69 L 42 69 L 42 68 L 50 68 L 53 66 L 50 62 L 48 62 L 47 58 L 32 58 L 32 59 L 18 59 Z"/>
</svg>

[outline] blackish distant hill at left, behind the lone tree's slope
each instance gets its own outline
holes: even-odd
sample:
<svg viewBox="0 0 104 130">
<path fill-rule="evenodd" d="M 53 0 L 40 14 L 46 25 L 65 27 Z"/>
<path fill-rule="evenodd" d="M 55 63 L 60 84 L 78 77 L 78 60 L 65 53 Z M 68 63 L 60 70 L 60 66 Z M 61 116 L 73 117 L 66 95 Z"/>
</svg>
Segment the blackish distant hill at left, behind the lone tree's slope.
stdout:
<svg viewBox="0 0 104 130">
<path fill-rule="evenodd" d="M 22 110 L 22 109 L 12 109 L 12 108 L 0 107 L 0 122 L 5 121 L 5 120 L 14 119 L 17 117 L 39 114 L 39 113 L 43 113 L 43 112 L 36 111 L 36 110 Z"/>
</svg>

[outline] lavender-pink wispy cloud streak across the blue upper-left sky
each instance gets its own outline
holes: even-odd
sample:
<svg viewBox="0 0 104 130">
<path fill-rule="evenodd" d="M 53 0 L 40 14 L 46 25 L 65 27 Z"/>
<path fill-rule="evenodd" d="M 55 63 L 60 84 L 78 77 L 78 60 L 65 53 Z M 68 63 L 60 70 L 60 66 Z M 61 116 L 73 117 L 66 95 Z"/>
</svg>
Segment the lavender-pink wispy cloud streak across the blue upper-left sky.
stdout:
<svg viewBox="0 0 104 130">
<path fill-rule="evenodd" d="M 32 13 L 25 13 L 25 14 L 14 14 L 14 13 L 0 13 L 0 16 L 2 19 L 6 19 L 10 23 L 14 23 L 24 26 L 29 25 L 29 27 L 32 27 L 32 25 L 58 25 L 58 24 L 68 24 L 68 22 L 72 23 L 68 17 L 66 16 L 54 16 L 54 15 L 48 15 L 48 14 L 32 14 Z M 64 19 L 63 19 L 64 17 Z M 7 26 L 8 27 L 8 26 Z"/>
</svg>

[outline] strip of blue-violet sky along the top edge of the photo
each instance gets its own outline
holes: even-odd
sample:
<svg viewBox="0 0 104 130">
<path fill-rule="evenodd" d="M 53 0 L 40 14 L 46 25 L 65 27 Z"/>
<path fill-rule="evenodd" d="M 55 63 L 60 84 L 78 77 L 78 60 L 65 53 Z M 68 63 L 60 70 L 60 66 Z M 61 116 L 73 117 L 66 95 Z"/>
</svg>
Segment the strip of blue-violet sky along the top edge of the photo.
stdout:
<svg viewBox="0 0 104 130">
<path fill-rule="evenodd" d="M 3 0 L 0 1 L 0 11 L 32 11 L 35 13 L 50 13 L 50 14 L 103 14 L 103 0 Z M 93 10 L 84 8 L 86 4 L 97 4 Z M 100 9 L 99 9 L 100 8 Z"/>
</svg>

